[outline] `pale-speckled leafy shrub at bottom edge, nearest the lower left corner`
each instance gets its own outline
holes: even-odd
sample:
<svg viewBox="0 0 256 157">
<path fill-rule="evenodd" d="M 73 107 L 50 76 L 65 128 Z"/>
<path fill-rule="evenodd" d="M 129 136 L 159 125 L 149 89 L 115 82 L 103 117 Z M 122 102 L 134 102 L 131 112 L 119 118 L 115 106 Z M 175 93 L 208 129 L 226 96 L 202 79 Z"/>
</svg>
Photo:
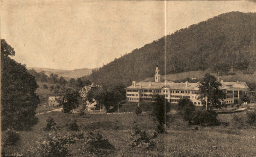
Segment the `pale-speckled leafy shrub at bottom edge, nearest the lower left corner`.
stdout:
<svg viewBox="0 0 256 157">
<path fill-rule="evenodd" d="M 52 136 L 49 134 L 47 140 L 39 144 L 39 152 L 42 157 L 68 157 L 70 151 L 65 147 L 69 144 L 67 136 Z"/>
</svg>

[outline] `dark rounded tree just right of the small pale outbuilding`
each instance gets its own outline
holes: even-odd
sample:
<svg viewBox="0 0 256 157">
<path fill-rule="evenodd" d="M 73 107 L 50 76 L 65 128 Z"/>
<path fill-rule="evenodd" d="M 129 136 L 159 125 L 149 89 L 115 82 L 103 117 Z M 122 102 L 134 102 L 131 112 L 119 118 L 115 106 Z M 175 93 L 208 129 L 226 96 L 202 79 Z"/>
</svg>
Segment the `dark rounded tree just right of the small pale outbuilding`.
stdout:
<svg viewBox="0 0 256 157">
<path fill-rule="evenodd" d="M 76 90 L 67 89 L 60 105 L 63 105 L 64 113 L 71 113 L 72 109 L 76 109 L 79 106 L 79 93 Z"/>
</svg>

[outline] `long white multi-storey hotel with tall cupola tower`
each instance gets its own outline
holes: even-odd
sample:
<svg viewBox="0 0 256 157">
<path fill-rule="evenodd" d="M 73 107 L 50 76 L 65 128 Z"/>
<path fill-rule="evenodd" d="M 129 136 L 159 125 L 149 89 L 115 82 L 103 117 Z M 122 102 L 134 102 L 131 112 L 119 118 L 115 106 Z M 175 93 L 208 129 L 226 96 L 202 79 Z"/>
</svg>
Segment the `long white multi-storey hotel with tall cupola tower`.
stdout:
<svg viewBox="0 0 256 157">
<path fill-rule="evenodd" d="M 201 106 L 200 100 L 197 100 L 199 91 L 198 83 L 174 83 L 161 82 L 158 65 L 156 65 L 155 82 L 136 82 L 126 88 L 126 97 L 129 102 L 151 101 L 154 93 L 164 95 L 168 102 L 178 103 L 182 97 L 188 97 L 194 105 Z M 219 87 L 226 93 L 226 99 L 220 100 L 221 103 L 237 103 L 239 93 L 247 91 L 249 88 L 245 82 L 223 82 Z"/>
</svg>

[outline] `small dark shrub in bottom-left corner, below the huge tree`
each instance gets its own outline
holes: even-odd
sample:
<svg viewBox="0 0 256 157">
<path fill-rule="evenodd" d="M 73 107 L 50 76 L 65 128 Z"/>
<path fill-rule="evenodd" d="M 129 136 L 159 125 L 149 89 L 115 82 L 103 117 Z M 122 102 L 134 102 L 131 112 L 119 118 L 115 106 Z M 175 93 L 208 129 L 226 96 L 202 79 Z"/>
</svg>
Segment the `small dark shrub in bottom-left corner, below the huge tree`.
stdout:
<svg viewBox="0 0 256 157">
<path fill-rule="evenodd" d="M 16 131 L 8 129 L 6 136 L 3 138 L 3 145 L 16 145 L 19 141 L 20 135 Z"/>
</svg>

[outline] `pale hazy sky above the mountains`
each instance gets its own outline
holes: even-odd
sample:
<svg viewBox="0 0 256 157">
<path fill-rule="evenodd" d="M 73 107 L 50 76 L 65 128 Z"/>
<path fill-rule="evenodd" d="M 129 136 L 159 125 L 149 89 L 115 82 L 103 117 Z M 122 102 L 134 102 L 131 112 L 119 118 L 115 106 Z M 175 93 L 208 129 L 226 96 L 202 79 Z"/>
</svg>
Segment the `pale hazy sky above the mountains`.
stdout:
<svg viewBox="0 0 256 157">
<path fill-rule="evenodd" d="M 231 11 L 255 1 L 1 1 L 1 39 L 27 67 L 95 68 Z"/>
</svg>

